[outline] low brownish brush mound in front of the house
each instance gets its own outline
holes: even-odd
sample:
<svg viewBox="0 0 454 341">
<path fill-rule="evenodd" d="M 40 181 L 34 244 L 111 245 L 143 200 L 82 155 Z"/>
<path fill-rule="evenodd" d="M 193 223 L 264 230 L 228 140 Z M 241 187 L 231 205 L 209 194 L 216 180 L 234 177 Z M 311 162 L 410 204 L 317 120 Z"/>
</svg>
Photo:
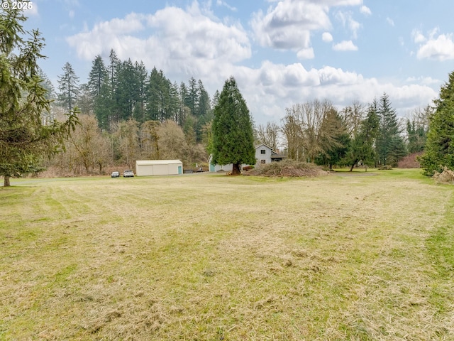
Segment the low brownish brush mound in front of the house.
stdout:
<svg viewBox="0 0 454 341">
<path fill-rule="evenodd" d="M 294 160 L 284 160 L 279 162 L 265 163 L 253 170 L 247 171 L 245 175 L 258 176 L 318 176 L 326 175 L 328 172 L 323 171 L 314 163 L 299 162 Z"/>
</svg>

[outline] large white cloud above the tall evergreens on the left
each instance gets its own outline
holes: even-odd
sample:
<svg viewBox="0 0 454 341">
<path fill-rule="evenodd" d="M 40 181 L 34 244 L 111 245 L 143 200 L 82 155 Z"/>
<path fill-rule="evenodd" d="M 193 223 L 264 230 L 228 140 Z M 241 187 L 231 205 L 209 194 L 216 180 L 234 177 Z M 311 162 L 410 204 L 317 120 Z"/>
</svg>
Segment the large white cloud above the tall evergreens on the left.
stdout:
<svg viewBox="0 0 454 341">
<path fill-rule="evenodd" d="M 138 38 L 139 32 L 143 38 Z M 167 7 L 153 15 L 131 13 L 98 23 L 67 42 L 84 60 L 109 55 L 113 48 L 121 59 L 133 55 L 131 59 L 143 60 L 148 67 L 172 65 L 194 73 L 204 73 L 209 61 L 234 63 L 251 55 L 243 28 L 213 21 L 194 5 L 187 11 Z"/>
</svg>

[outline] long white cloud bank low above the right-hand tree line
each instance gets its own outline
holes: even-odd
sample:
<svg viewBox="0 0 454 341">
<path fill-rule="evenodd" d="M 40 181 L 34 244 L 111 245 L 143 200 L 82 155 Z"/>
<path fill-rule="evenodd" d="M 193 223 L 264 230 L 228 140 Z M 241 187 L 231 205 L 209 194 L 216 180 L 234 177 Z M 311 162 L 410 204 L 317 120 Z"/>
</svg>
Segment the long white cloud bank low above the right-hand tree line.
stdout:
<svg viewBox="0 0 454 341">
<path fill-rule="evenodd" d="M 282 119 L 285 108 L 311 99 L 328 98 L 336 107 L 345 107 L 354 100 L 372 102 L 384 92 L 389 94 L 398 114 L 414 107 L 425 107 L 436 92 L 427 85 L 393 85 L 376 78 L 364 78 L 356 72 L 347 72 L 330 66 L 306 70 L 300 63 L 292 65 L 263 63 L 260 69 L 234 70 L 255 121 Z"/>
</svg>

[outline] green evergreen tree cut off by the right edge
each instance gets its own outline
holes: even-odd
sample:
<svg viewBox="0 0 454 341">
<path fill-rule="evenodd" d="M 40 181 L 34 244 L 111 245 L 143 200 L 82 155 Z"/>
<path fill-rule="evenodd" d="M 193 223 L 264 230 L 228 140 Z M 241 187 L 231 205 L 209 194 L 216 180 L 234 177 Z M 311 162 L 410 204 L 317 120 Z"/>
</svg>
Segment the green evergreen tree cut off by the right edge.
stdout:
<svg viewBox="0 0 454 341">
<path fill-rule="evenodd" d="M 426 148 L 420 158 L 425 175 L 454 170 L 454 72 L 441 87 L 439 98 L 434 101 L 435 112 L 429 119 Z"/>
</svg>

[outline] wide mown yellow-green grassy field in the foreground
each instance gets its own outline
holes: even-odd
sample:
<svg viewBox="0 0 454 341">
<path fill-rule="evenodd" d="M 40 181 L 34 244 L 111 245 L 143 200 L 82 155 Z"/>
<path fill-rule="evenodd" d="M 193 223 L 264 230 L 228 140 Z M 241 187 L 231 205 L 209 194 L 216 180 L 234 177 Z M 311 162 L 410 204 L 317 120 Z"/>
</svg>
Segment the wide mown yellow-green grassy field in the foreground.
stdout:
<svg viewBox="0 0 454 341">
<path fill-rule="evenodd" d="M 13 179 L 0 340 L 454 340 L 454 188 L 375 173 Z"/>
</svg>

